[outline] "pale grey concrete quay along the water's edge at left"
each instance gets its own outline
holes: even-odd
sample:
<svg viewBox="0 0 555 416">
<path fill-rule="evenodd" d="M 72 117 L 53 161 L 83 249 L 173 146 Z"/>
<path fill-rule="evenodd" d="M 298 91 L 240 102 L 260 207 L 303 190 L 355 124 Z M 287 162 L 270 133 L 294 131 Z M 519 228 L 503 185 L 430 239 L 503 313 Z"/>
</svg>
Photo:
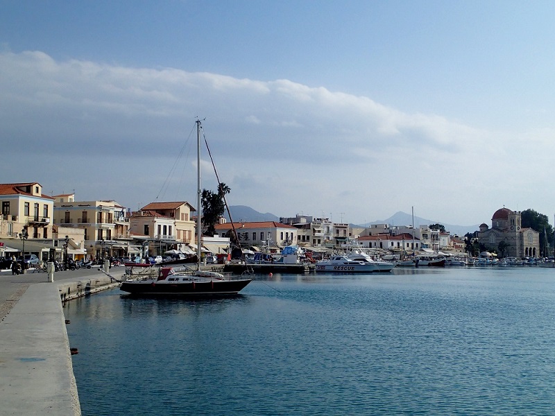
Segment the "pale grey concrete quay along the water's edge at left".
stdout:
<svg viewBox="0 0 555 416">
<path fill-rule="evenodd" d="M 121 279 L 124 268 L 112 268 Z M 0 272 L 0 414 L 81 414 L 62 300 L 117 285 L 97 268 Z"/>
</svg>

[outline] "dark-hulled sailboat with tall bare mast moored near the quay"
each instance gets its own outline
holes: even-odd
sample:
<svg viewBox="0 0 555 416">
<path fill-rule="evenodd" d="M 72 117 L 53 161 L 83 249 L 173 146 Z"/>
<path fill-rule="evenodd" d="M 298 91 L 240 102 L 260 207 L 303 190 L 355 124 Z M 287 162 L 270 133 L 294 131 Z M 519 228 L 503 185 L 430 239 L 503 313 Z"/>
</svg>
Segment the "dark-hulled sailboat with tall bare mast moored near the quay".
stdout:
<svg viewBox="0 0 555 416">
<path fill-rule="evenodd" d="M 160 268 L 156 277 L 128 279 L 121 282 L 123 292 L 138 296 L 228 296 L 237 295 L 253 279 L 224 276 L 218 272 L 200 270 L 202 248 L 202 209 L 200 189 L 200 120 L 196 121 L 197 146 L 197 264 L 194 271 L 176 270 L 173 267 Z"/>
</svg>

